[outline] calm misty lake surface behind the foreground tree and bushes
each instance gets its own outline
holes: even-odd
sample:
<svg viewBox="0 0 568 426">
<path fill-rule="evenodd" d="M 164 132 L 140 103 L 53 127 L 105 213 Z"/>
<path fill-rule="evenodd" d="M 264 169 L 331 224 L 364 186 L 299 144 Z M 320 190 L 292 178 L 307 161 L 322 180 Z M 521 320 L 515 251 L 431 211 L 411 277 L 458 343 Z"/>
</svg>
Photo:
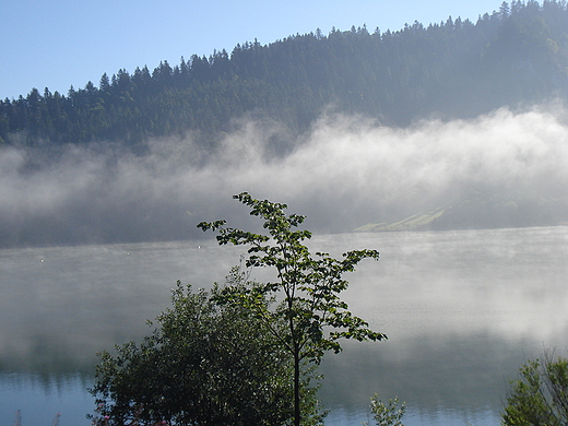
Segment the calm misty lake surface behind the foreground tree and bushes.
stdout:
<svg viewBox="0 0 568 426">
<path fill-rule="evenodd" d="M 212 237 L 212 236 L 211 236 Z M 404 424 L 497 425 L 508 380 L 543 348 L 566 354 L 568 227 L 316 236 L 332 256 L 374 248 L 344 299 L 388 334 L 326 356 L 327 425 L 360 425 L 369 398 Z M 201 241 L 0 250 L 0 419 L 88 425 L 95 353 L 137 340 L 177 280 L 223 282 L 242 248 Z M 262 279 L 262 274 L 256 275 Z"/>
</svg>

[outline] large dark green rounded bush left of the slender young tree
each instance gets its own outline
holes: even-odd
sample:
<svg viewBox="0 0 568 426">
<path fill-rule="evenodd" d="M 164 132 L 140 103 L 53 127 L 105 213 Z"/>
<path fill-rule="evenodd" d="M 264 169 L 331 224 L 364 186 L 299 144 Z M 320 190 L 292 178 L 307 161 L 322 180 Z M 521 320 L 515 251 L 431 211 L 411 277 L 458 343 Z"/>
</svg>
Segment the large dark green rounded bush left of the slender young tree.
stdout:
<svg viewBox="0 0 568 426">
<path fill-rule="evenodd" d="M 238 294 L 246 285 L 233 271 L 230 292 Z M 152 335 L 141 344 L 117 346 L 117 355 L 100 354 L 90 390 L 96 398 L 97 424 L 291 424 L 291 356 L 246 308 L 217 305 L 221 292 L 192 292 L 178 282 L 173 307 L 157 318 L 159 327 Z M 315 392 L 303 381 L 309 424 L 319 418 Z"/>
</svg>

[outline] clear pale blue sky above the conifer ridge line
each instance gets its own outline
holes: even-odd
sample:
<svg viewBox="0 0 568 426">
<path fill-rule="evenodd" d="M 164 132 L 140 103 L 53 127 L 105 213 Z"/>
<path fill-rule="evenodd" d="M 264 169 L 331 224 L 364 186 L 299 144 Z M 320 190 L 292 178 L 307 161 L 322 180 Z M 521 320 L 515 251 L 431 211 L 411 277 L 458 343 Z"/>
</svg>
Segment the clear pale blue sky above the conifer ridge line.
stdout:
<svg viewBox="0 0 568 426">
<path fill-rule="evenodd" d="M 67 93 L 125 68 L 228 52 L 237 43 L 268 44 L 291 34 L 366 24 L 400 29 L 461 16 L 476 21 L 500 1 L 477 0 L 0 0 L 0 98 Z"/>
</svg>

